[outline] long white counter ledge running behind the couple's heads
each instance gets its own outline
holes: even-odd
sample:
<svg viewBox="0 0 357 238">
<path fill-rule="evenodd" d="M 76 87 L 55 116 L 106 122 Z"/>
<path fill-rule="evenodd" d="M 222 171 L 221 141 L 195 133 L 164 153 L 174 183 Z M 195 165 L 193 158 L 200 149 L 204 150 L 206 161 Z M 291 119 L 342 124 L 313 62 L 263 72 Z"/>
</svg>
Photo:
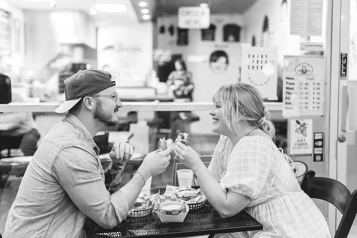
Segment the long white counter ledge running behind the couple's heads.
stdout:
<svg viewBox="0 0 357 238">
<path fill-rule="evenodd" d="M 281 102 L 266 102 L 269 111 L 281 111 Z M 0 112 L 54 112 L 60 102 L 11 102 L 0 104 Z M 210 111 L 212 102 L 123 102 L 122 111 Z"/>
</svg>

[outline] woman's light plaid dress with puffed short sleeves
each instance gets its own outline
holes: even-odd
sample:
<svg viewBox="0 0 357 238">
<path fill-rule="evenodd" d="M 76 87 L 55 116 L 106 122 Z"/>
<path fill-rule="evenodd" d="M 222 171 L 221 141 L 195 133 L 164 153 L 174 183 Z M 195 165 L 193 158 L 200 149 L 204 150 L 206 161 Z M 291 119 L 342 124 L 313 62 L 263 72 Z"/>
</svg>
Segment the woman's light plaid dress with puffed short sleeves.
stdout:
<svg viewBox="0 0 357 238">
<path fill-rule="evenodd" d="M 263 230 L 215 237 L 331 237 L 324 216 L 306 193 L 284 192 L 290 168 L 275 144 L 262 136 L 243 137 L 226 167 L 229 142 L 228 137 L 221 136 L 208 170 L 224 191 L 251 198 L 244 210 L 263 224 Z"/>
</svg>

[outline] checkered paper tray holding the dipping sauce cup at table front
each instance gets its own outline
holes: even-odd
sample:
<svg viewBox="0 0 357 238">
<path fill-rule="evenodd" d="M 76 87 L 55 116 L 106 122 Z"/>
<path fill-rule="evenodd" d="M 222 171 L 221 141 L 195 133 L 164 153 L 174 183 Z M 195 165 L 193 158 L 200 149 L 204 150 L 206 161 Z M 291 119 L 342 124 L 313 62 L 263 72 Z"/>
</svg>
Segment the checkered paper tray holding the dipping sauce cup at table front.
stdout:
<svg viewBox="0 0 357 238">
<path fill-rule="evenodd" d="M 182 201 L 183 205 L 183 211 L 178 214 L 169 214 L 170 212 L 167 211 L 166 214 L 160 213 L 160 203 L 166 202 L 166 201 L 175 201 L 175 202 L 181 202 L 177 199 L 177 197 L 174 196 L 165 196 L 165 195 L 160 195 L 159 199 L 157 199 L 155 207 L 154 207 L 154 212 L 156 215 L 159 217 L 161 222 L 183 222 L 185 220 L 186 215 L 188 211 L 190 211 L 190 208 L 188 207 L 186 201 Z"/>
</svg>

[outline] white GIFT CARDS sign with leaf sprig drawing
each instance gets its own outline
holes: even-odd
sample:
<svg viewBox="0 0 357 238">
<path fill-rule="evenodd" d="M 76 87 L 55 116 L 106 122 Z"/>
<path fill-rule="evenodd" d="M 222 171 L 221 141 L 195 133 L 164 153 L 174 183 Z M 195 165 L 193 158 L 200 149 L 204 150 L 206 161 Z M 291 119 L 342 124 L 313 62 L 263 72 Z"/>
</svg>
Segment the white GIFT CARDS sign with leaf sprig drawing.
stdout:
<svg viewBox="0 0 357 238">
<path fill-rule="evenodd" d="M 290 119 L 290 156 L 312 155 L 312 119 Z"/>
</svg>

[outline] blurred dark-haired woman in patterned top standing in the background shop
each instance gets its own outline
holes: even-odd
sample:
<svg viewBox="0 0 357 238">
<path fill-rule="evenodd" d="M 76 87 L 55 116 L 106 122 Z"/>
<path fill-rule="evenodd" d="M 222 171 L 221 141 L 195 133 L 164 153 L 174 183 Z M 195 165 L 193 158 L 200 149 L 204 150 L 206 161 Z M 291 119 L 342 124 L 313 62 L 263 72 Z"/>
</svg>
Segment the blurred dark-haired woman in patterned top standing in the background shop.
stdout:
<svg viewBox="0 0 357 238">
<path fill-rule="evenodd" d="M 175 61 L 175 71 L 172 71 L 167 77 L 167 86 L 174 92 L 175 100 L 180 102 L 191 102 L 193 83 L 191 73 L 187 72 L 186 64 L 183 60 Z"/>
</svg>

